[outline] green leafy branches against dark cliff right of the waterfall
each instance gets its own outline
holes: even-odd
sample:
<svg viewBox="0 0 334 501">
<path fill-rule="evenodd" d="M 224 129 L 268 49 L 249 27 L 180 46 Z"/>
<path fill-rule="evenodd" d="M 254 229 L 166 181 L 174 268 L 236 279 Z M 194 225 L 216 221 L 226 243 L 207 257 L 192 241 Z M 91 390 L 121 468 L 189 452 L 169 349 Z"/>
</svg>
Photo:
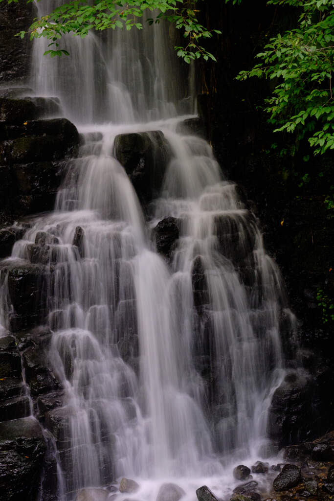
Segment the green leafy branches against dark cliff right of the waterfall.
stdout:
<svg viewBox="0 0 334 501">
<path fill-rule="evenodd" d="M 271 38 L 256 56 L 261 62 L 241 71 L 237 79 L 274 81 L 275 89 L 265 103 L 274 132 L 293 132 L 297 143 L 306 137 L 314 153 L 334 149 L 332 0 L 269 0 L 268 4 L 298 9 L 298 27 Z"/>
</svg>

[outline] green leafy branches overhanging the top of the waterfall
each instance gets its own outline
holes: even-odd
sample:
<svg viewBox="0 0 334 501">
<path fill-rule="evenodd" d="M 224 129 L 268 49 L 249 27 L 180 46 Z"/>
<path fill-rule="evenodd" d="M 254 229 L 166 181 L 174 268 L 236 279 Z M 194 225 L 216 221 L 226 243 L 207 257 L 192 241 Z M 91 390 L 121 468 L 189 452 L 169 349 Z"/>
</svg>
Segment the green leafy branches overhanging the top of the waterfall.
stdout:
<svg viewBox="0 0 334 501">
<path fill-rule="evenodd" d="M 4 0 L 0 0 L 2 2 Z M 19 0 L 8 0 L 8 3 Z M 32 0 L 28 0 L 31 2 Z M 228 1 L 228 0 L 226 0 Z M 85 38 L 91 30 L 103 31 L 112 29 L 132 28 L 141 30 L 143 25 L 141 18 L 145 11 L 151 11 L 153 18 L 149 18 L 148 24 L 160 23 L 166 19 L 174 24 L 177 30 L 183 32 L 185 39 L 184 47 L 175 47 L 177 55 L 186 63 L 191 60 L 204 58 L 215 61 L 213 54 L 202 46 L 202 40 L 211 38 L 213 33 L 220 34 L 219 30 L 207 30 L 198 22 L 196 9 L 199 0 L 73 0 L 57 7 L 52 13 L 36 19 L 28 32 L 22 31 L 18 36 L 24 38 L 46 37 L 50 40 L 50 50 L 45 54 L 51 57 L 69 55 L 64 49 L 59 49 L 59 42 L 63 35 L 72 34 Z M 233 0 L 233 4 L 241 0 Z M 158 14 L 156 12 L 158 11 Z"/>
</svg>

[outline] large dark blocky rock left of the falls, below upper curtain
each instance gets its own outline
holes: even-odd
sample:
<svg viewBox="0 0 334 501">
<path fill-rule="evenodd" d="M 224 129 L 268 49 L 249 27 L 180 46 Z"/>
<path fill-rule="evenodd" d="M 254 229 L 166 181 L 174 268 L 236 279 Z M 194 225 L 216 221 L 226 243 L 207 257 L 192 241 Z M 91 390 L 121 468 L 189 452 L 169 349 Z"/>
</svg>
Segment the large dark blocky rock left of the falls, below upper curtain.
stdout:
<svg viewBox="0 0 334 501">
<path fill-rule="evenodd" d="M 0 131 L 1 132 L 1 131 Z M 0 208 L 29 214 L 51 210 L 65 168 L 78 154 L 79 134 L 66 119 L 6 126 L 0 142 Z"/>
</svg>

